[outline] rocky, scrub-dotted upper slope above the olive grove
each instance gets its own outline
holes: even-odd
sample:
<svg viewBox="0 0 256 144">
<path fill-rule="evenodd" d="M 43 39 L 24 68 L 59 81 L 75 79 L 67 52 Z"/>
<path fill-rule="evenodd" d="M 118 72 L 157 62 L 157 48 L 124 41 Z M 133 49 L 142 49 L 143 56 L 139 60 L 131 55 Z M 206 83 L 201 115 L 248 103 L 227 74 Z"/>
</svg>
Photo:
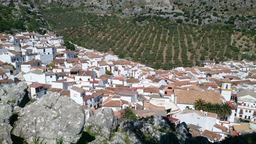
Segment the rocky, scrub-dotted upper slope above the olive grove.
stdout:
<svg viewBox="0 0 256 144">
<path fill-rule="evenodd" d="M 252 0 L 35 0 L 39 6 L 83 7 L 85 11 L 125 16 L 158 15 L 190 24 L 235 24 L 256 29 L 256 2 Z"/>
</svg>

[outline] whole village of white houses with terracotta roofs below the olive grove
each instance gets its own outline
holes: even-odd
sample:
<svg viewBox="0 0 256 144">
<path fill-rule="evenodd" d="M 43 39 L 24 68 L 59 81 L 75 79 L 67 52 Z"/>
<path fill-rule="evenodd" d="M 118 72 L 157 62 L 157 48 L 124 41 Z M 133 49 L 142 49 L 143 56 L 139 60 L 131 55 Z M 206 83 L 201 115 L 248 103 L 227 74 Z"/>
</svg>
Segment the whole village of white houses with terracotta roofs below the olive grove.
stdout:
<svg viewBox="0 0 256 144">
<path fill-rule="evenodd" d="M 192 136 L 221 141 L 256 130 L 256 61 L 202 61 L 203 67 L 154 70 L 115 55 L 63 46 L 55 33 L 0 34 L 0 83 L 25 81 L 33 99 L 48 92 L 85 109 L 129 107 L 139 118 L 186 122 Z M 228 104 L 229 115 L 195 110 L 198 101 Z"/>
</svg>

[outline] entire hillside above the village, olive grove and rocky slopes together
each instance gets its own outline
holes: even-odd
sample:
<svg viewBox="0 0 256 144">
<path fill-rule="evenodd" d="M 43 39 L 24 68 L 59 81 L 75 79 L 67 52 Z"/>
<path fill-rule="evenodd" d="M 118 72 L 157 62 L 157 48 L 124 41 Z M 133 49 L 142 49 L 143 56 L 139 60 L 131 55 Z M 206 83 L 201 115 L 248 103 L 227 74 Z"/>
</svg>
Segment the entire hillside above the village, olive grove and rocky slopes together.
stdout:
<svg viewBox="0 0 256 144">
<path fill-rule="evenodd" d="M 255 5 L 251 0 L 8 0 L 0 5 L 0 32 L 52 29 L 66 44 L 170 69 L 205 59 L 255 60 Z"/>
</svg>

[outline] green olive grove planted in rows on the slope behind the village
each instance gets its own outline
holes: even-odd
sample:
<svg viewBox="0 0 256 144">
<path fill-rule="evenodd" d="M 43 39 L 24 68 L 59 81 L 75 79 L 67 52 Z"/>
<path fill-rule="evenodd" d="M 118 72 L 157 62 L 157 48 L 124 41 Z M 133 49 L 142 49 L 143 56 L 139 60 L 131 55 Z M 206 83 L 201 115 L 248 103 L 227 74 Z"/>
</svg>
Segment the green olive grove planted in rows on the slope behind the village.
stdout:
<svg viewBox="0 0 256 144">
<path fill-rule="evenodd" d="M 159 16 L 119 17 L 82 8 L 41 10 L 50 26 L 67 40 L 155 68 L 200 65 L 200 60 L 255 59 L 254 33 L 235 33 L 234 25 L 173 22 Z M 153 64 L 154 63 L 154 64 Z"/>
</svg>

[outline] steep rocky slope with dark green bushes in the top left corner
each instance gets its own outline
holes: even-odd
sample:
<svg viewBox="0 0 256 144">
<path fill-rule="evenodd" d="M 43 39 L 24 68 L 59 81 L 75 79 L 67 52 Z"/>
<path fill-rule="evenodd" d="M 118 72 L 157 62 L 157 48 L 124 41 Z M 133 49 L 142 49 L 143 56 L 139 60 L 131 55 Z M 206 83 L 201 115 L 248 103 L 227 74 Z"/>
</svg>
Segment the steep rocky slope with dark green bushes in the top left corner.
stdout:
<svg viewBox="0 0 256 144">
<path fill-rule="evenodd" d="M 30 0 L 0 0 L 0 33 L 38 31 L 47 27 L 40 10 Z"/>
</svg>

